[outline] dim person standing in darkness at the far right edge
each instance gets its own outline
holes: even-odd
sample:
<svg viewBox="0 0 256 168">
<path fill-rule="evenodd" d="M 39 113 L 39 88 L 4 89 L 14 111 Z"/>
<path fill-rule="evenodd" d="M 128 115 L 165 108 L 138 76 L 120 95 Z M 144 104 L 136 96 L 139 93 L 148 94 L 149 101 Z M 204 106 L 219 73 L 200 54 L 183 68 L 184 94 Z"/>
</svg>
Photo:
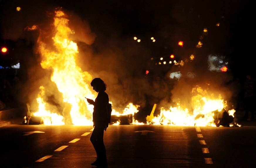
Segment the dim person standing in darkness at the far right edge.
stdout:
<svg viewBox="0 0 256 168">
<path fill-rule="evenodd" d="M 244 120 L 250 121 L 254 120 L 254 101 L 255 101 L 255 79 L 251 77 L 250 74 L 246 76 L 247 80 L 244 84 L 244 108 L 245 108 L 245 115 Z M 249 112 L 251 112 L 251 118 L 249 117 Z"/>
</svg>

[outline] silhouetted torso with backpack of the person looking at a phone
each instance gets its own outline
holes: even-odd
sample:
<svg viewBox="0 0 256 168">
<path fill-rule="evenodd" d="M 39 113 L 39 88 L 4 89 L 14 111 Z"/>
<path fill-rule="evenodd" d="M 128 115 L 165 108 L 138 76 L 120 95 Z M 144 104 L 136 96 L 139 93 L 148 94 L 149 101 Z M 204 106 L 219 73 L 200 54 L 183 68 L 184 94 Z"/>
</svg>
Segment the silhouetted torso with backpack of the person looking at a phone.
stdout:
<svg viewBox="0 0 256 168">
<path fill-rule="evenodd" d="M 107 104 L 109 102 L 108 94 L 100 91 L 94 101 L 94 108 L 92 113 L 92 121 L 94 125 L 108 124 Z"/>
</svg>

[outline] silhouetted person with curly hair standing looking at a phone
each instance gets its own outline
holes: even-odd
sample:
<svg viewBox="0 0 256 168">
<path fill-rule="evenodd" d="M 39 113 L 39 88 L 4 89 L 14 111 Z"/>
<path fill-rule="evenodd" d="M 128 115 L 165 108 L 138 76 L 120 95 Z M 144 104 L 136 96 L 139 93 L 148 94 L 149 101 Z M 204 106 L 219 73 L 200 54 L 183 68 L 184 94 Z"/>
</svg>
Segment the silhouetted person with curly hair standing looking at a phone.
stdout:
<svg viewBox="0 0 256 168">
<path fill-rule="evenodd" d="M 93 90 L 98 92 L 98 96 L 95 101 L 87 99 L 89 104 L 94 105 L 93 109 L 93 127 L 94 130 L 91 133 L 91 143 L 96 151 L 97 159 L 91 165 L 107 167 L 106 148 L 103 142 L 104 130 L 108 127 L 108 112 L 107 104 L 109 102 L 108 94 L 105 92 L 106 84 L 100 78 L 94 78 L 91 81 Z"/>
</svg>

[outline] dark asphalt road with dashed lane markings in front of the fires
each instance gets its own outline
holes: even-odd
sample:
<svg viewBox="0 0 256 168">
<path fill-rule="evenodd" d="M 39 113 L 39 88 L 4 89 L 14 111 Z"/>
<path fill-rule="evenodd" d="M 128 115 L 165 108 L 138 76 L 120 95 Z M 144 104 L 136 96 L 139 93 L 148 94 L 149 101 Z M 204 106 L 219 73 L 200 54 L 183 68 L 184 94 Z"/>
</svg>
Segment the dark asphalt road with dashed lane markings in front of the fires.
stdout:
<svg viewBox="0 0 256 168">
<path fill-rule="evenodd" d="M 256 127 L 110 125 L 108 168 L 256 167 Z M 0 127 L 0 167 L 94 168 L 92 126 Z"/>
</svg>

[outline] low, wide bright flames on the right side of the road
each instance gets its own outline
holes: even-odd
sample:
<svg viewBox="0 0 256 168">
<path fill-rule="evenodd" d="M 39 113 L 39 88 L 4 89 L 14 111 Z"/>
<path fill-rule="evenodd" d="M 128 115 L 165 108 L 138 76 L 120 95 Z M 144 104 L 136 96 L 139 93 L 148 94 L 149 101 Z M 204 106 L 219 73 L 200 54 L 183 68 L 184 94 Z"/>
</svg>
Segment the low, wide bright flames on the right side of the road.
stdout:
<svg viewBox="0 0 256 168">
<path fill-rule="evenodd" d="M 217 110 L 221 112 L 227 107 L 227 102 L 221 99 L 221 95 L 218 98 L 214 98 L 213 94 L 207 93 L 201 87 L 196 86 L 193 88 L 192 93 L 196 93 L 192 97 L 191 102 L 193 106 L 193 113 L 191 114 L 187 108 L 182 108 L 179 103 L 177 107 L 170 107 L 169 110 L 161 108 L 160 115 L 154 118 L 149 118 L 147 121 L 149 124 L 154 125 L 176 125 L 176 126 L 216 126 L 216 116 L 214 112 Z M 234 109 L 228 110 L 228 114 L 234 117 Z M 234 123 L 230 123 L 233 126 Z M 236 125 L 240 126 L 240 125 Z"/>
</svg>

